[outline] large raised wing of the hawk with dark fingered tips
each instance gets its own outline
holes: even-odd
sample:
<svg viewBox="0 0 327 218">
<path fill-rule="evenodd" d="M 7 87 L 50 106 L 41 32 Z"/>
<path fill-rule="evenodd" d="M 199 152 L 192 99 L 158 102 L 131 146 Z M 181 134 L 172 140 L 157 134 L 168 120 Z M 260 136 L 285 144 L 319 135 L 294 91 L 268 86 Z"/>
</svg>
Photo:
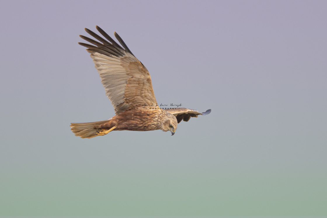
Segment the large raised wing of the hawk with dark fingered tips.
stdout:
<svg viewBox="0 0 327 218">
<path fill-rule="evenodd" d="M 85 28 L 87 33 L 100 42 L 80 35 L 82 39 L 93 45 L 78 44 L 87 47 L 86 50 L 91 53 L 90 56 L 116 114 L 142 105 L 156 105 L 151 77 L 146 67 L 137 60 L 116 32 L 114 35 L 123 47 L 100 27 L 96 26 L 96 29 L 108 41 Z"/>
</svg>

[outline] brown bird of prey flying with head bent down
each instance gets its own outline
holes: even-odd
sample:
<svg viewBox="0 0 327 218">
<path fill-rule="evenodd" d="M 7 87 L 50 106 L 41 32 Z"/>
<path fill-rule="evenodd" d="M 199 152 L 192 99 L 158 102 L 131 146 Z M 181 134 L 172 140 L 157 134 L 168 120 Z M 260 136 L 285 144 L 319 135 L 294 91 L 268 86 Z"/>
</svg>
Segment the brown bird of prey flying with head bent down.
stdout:
<svg viewBox="0 0 327 218">
<path fill-rule="evenodd" d="M 191 117 L 211 112 L 211 109 L 199 113 L 187 108 L 158 107 L 146 67 L 132 54 L 116 32 L 114 35 L 122 46 L 100 27 L 96 26 L 96 29 L 106 39 L 85 28 L 98 41 L 80 35 L 93 45 L 78 44 L 87 47 L 116 115 L 98 122 L 71 123 L 75 136 L 92 138 L 106 135 L 113 130 L 163 130 L 174 135 L 177 123 L 181 120 L 188 121 Z"/>
</svg>

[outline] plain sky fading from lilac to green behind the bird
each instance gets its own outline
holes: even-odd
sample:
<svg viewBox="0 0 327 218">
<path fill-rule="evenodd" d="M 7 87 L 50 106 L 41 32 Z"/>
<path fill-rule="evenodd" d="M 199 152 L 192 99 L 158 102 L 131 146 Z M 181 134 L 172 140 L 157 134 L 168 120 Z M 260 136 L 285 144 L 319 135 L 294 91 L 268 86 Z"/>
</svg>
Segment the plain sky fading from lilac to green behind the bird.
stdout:
<svg viewBox="0 0 327 218">
<path fill-rule="evenodd" d="M 6 1 L 0 216 L 327 216 L 326 1 Z M 84 27 L 158 103 L 210 115 L 81 139 L 114 116 Z"/>
</svg>

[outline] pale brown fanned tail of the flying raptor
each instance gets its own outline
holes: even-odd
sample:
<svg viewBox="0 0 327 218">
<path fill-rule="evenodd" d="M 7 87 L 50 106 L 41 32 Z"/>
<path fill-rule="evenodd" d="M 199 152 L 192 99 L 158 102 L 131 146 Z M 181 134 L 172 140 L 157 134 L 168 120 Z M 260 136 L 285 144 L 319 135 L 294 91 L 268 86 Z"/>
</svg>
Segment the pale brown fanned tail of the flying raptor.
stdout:
<svg viewBox="0 0 327 218">
<path fill-rule="evenodd" d="M 99 136 L 97 133 L 100 128 L 98 128 L 101 124 L 108 122 L 109 120 L 102 120 L 91 123 L 71 123 L 70 128 L 75 136 L 79 136 L 81 138 L 93 138 L 95 136 Z"/>
</svg>

